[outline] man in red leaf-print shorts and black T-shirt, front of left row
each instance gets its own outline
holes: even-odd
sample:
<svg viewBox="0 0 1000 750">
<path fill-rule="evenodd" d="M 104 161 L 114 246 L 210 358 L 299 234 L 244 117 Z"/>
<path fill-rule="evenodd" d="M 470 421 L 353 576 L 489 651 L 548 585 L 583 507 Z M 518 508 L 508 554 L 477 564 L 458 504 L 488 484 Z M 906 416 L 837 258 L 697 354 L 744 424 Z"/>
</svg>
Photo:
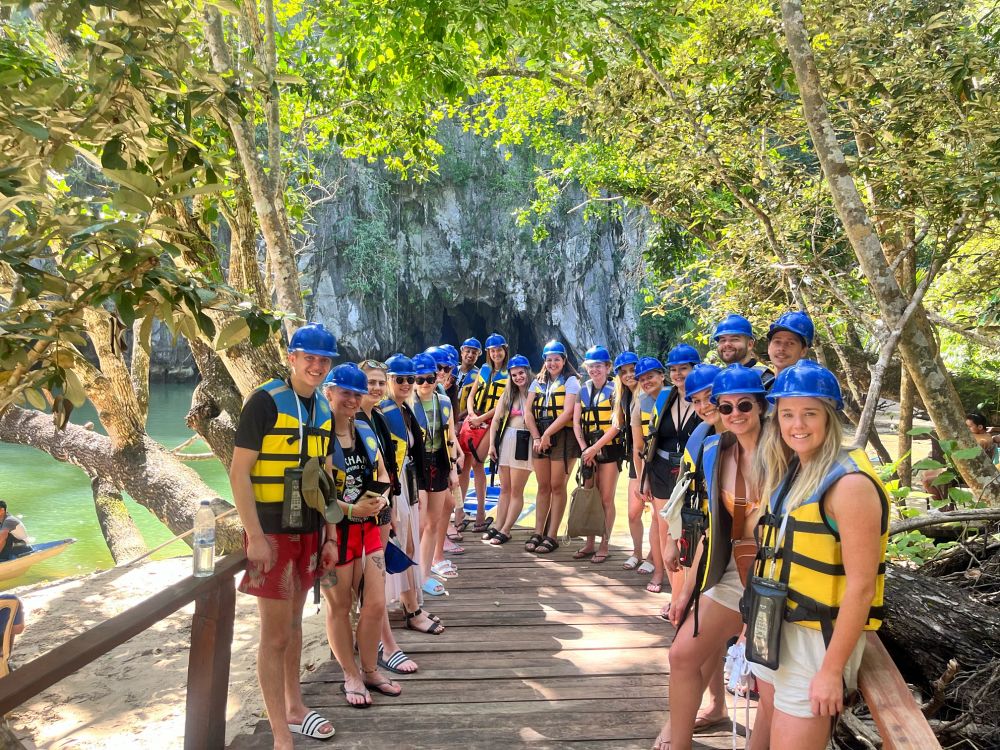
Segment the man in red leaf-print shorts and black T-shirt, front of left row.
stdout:
<svg viewBox="0 0 1000 750">
<path fill-rule="evenodd" d="M 247 398 L 229 468 L 247 555 L 239 589 L 257 597 L 257 678 L 279 750 L 293 746 L 292 733 L 315 739 L 334 733 L 306 707 L 299 683 L 302 608 L 317 575 L 323 517 L 306 503 L 295 478 L 311 459 L 333 469 L 330 405 L 316 391 L 336 356 L 337 341 L 322 325 L 309 323 L 292 334 L 289 377 L 270 380 Z"/>
</svg>

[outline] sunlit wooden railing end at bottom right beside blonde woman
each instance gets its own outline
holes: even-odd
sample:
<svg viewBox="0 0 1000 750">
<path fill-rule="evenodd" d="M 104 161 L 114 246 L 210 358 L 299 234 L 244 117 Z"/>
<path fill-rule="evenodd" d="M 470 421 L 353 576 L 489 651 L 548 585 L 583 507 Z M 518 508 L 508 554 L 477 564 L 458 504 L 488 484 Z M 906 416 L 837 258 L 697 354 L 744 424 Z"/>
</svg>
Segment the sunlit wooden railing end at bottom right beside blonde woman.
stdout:
<svg viewBox="0 0 1000 750">
<path fill-rule="evenodd" d="M 941 744 L 877 634 L 869 632 L 858 689 L 886 750 L 934 750 Z"/>
</svg>

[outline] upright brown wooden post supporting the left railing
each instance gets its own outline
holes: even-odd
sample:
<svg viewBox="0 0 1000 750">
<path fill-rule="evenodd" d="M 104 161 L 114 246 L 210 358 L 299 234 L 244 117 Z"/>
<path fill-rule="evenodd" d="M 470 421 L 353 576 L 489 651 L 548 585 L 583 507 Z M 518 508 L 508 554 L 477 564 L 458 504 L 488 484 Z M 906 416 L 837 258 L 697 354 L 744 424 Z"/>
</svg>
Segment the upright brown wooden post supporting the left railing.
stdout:
<svg viewBox="0 0 1000 750">
<path fill-rule="evenodd" d="M 214 750 L 226 745 L 226 699 L 236 617 L 236 582 L 220 576 L 195 600 L 188 656 L 185 750 Z"/>
</svg>

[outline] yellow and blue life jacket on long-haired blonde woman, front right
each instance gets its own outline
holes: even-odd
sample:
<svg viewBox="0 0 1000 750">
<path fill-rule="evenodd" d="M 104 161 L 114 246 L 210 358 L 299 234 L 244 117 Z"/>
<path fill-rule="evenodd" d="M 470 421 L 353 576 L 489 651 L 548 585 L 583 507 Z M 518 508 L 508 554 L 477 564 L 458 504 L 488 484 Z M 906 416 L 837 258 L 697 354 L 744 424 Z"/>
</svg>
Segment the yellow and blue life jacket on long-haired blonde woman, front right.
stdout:
<svg viewBox="0 0 1000 750">
<path fill-rule="evenodd" d="M 827 517 L 823 504 L 827 492 L 848 474 L 864 474 L 878 490 L 882 522 L 880 554 L 875 578 L 875 593 L 868 609 L 865 630 L 878 630 L 882 624 L 882 597 L 885 589 L 885 548 L 888 542 L 889 502 L 882 482 L 868 456 L 860 449 L 842 449 L 819 487 L 801 505 L 790 512 L 784 499 L 795 480 L 798 463 L 793 460 L 781 486 L 771 496 L 768 512 L 761 519 L 762 547 L 767 550 L 777 541 L 781 523 L 788 515 L 781 547 L 771 554 L 776 560 L 774 578 L 788 586 L 785 619 L 813 630 L 821 630 L 827 645 L 840 612 L 847 587 L 840 534 Z M 766 558 L 767 554 L 762 554 Z M 757 574 L 770 574 L 770 562 L 758 559 Z"/>
</svg>

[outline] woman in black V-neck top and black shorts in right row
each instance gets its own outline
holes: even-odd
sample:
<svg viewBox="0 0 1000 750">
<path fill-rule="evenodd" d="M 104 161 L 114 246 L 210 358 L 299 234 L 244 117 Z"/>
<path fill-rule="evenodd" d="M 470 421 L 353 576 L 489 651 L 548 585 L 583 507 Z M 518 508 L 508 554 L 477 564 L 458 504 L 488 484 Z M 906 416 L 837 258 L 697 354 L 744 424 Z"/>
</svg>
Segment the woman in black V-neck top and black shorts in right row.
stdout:
<svg viewBox="0 0 1000 750">
<path fill-rule="evenodd" d="M 684 379 L 700 362 L 698 350 L 687 344 L 678 344 L 667 354 L 667 372 L 672 385 L 660 391 L 653 404 L 646 431 L 646 464 L 640 475 L 640 485 L 653 503 L 652 525 L 656 526 L 656 536 L 662 545 L 663 566 L 670 579 L 671 592 L 683 587 L 684 575 L 677 562 L 676 540 L 670 536 L 660 511 L 674 491 L 684 457 L 684 445 L 701 423 L 684 393 Z"/>
</svg>

